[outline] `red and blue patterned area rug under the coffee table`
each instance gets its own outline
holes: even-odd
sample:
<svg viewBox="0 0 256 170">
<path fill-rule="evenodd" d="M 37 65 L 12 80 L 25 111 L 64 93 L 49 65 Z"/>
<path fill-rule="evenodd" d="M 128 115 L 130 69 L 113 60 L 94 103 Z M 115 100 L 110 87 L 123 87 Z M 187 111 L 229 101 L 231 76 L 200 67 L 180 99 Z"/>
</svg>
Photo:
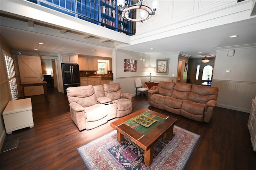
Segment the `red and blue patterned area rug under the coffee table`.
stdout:
<svg viewBox="0 0 256 170">
<path fill-rule="evenodd" d="M 127 138 L 119 143 L 116 131 L 78 148 L 78 152 L 89 170 L 180 170 L 186 166 L 200 135 L 175 125 L 173 133 L 170 142 L 166 135 L 156 142 L 150 166 L 144 163 L 144 150 Z"/>
</svg>

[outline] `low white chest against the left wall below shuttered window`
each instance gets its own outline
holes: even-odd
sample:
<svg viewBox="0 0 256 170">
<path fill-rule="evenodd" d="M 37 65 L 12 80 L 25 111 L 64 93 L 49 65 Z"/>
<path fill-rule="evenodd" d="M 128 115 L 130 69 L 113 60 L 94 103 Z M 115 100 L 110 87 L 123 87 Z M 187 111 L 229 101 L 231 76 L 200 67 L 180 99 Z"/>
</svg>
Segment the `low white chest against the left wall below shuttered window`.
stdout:
<svg viewBox="0 0 256 170">
<path fill-rule="evenodd" d="M 25 127 L 34 127 L 31 98 L 9 101 L 3 118 L 7 134 Z"/>
</svg>

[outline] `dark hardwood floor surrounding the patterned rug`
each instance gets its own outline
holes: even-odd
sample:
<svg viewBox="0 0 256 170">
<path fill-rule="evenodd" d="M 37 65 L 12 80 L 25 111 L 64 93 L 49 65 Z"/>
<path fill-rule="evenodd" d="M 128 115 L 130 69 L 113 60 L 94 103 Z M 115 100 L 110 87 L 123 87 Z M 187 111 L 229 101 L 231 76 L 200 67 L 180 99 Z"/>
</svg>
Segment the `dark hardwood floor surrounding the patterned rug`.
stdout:
<svg viewBox="0 0 256 170">
<path fill-rule="evenodd" d="M 48 88 L 49 105 L 44 96 L 32 96 L 34 127 L 13 131 L 5 142 L 19 139 L 18 148 L 1 152 L 1 170 L 87 169 L 77 148 L 110 131 L 110 122 L 89 131 L 78 131 L 73 123 L 66 95 Z M 151 107 L 147 96 L 136 96 L 134 111 L 148 108 L 178 119 L 176 125 L 200 135 L 185 170 L 255 170 L 247 128 L 249 114 L 214 108 L 210 123 L 200 123 Z"/>
</svg>

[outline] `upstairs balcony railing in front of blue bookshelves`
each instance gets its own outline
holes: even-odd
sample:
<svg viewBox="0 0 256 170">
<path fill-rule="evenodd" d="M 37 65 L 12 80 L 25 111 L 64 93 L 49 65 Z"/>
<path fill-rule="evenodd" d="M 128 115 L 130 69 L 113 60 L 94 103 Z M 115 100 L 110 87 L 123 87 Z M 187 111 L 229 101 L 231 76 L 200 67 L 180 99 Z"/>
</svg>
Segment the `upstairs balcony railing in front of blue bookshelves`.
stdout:
<svg viewBox="0 0 256 170">
<path fill-rule="evenodd" d="M 136 23 L 124 20 L 116 0 L 28 0 L 52 10 L 107 27 L 114 31 L 134 35 Z"/>
</svg>

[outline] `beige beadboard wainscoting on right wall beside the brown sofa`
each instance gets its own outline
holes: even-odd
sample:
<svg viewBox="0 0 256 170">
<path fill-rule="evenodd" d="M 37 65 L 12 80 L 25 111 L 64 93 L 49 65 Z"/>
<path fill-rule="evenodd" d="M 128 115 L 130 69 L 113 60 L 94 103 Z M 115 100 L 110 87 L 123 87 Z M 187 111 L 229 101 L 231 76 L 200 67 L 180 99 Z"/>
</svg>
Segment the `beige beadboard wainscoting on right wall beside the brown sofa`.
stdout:
<svg viewBox="0 0 256 170">
<path fill-rule="evenodd" d="M 212 80 L 212 86 L 219 88 L 218 107 L 250 113 L 256 82 Z"/>
</svg>

